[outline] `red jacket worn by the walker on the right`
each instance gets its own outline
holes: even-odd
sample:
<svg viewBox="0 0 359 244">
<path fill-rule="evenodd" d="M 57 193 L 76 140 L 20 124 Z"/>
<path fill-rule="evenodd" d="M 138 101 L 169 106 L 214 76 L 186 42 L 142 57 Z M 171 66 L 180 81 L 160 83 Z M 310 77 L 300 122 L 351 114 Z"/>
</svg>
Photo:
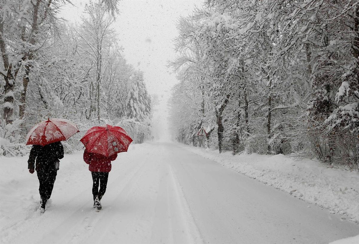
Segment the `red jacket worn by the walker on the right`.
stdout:
<svg viewBox="0 0 359 244">
<path fill-rule="evenodd" d="M 117 154 L 106 157 L 98 153 L 84 151 L 84 161 L 89 165 L 91 172 L 109 172 L 111 171 L 111 161 L 117 158 Z"/>
</svg>

